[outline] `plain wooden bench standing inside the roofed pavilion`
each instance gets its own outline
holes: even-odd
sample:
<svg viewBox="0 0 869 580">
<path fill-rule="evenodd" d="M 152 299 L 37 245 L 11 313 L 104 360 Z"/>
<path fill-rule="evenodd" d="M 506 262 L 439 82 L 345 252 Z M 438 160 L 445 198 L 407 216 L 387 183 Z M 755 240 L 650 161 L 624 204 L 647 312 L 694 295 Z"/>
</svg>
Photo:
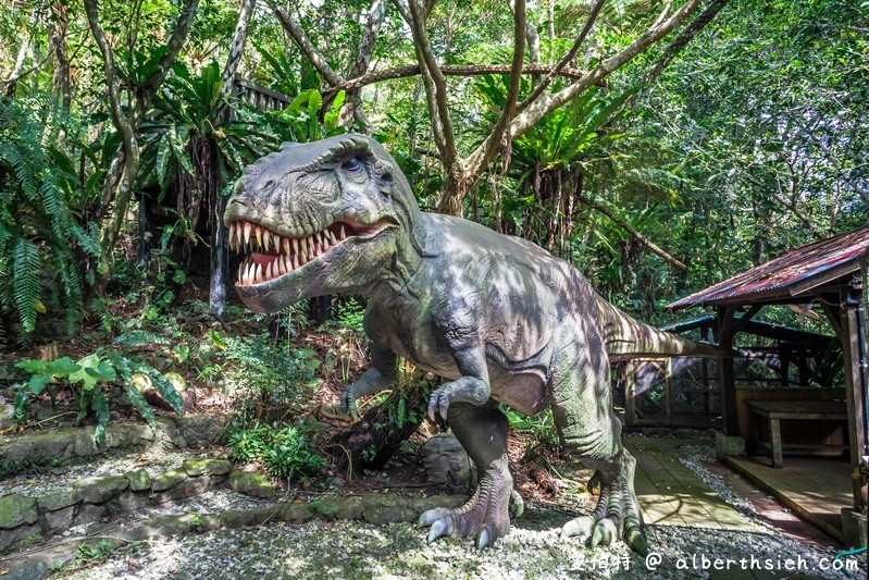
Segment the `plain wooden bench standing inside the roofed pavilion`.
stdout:
<svg viewBox="0 0 869 580">
<path fill-rule="evenodd" d="M 757 415 L 769 421 L 770 453 L 772 455 L 772 467 L 781 469 L 782 460 L 782 419 L 799 419 L 816 421 L 843 421 L 847 422 L 847 407 L 844 400 L 746 400 L 745 406 L 749 415 Z M 752 423 L 752 440 L 757 442 L 758 434 L 756 423 Z M 815 445 L 810 447 L 836 447 L 846 449 L 842 445 Z"/>
</svg>

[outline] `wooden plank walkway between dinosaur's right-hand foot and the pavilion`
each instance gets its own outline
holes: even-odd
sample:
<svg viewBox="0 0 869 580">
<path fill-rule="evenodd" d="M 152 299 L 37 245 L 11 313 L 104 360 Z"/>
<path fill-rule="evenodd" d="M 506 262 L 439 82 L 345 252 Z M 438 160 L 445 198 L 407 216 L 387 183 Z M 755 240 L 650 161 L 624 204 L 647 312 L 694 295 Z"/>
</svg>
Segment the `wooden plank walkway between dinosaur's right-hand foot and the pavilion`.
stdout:
<svg viewBox="0 0 869 580">
<path fill-rule="evenodd" d="M 696 441 L 625 437 L 624 444 L 636 458 L 634 488 L 646 523 L 758 530 L 679 460 L 680 447 Z"/>
</svg>

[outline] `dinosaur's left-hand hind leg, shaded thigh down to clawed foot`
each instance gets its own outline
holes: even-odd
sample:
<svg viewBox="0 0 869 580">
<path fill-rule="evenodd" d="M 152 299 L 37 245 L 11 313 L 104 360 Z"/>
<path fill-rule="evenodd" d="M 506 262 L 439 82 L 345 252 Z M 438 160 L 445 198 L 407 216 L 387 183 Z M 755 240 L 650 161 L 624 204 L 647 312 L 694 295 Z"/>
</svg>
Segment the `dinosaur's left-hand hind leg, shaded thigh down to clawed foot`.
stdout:
<svg viewBox="0 0 869 580">
<path fill-rule="evenodd" d="M 507 461 L 507 417 L 492 400 L 483 406 L 454 403 L 447 423 L 476 465 L 480 482 L 467 504 L 430 509 L 419 525 L 431 526 L 430 542 L 442 535 L 474 535 L 476 547 L 483 550 L 510 530 L 513 479 Z"/>
</svg>

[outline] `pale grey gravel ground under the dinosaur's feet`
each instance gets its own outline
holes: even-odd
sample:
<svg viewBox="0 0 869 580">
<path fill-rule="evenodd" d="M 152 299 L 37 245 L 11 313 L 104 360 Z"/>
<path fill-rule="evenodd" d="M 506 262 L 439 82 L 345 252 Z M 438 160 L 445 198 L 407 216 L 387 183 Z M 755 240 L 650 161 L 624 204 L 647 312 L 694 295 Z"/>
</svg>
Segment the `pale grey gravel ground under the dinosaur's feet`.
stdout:
<svg viewBox="0 0 869 580">
<path fill-rule="evenodd" d="M 410 523 L 275 522 L 144 544 L 71 577 L 693 579 L 771 570 L 778 578 L 866 578 L 865 555 L 835 560 L 834 552 L 786 538 L 754 518 L 750 504 L 700 465 L 708 458 L 709 449 L 697 446 L 684 462 L 764 531 L 648 526 L 650 554 L 643 558 L 621 542 L 588 550 L 579 539 L 562 540 L 558 530 L 573 516 L 539 506 L 529 506 L 510 534 L 482 554 L 464 540 L 426 545 L 425 531 Z M 839 568 L 843 565 L 857 569 Z"/>
</svg>

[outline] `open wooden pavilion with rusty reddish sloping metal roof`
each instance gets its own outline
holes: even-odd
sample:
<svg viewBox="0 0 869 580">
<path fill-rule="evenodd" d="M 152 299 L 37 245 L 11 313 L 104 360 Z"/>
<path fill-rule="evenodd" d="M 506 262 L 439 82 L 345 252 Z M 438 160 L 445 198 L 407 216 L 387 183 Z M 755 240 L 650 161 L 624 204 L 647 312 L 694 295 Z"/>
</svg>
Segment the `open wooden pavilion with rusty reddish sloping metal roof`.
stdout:
<svg viewBox="0 0 869 580">
<path fill-rule="evenodd" d="M 846 419 L 849 461 L 855 473 L 862 474 L 853 479 L 853 507 L 855 513 L 862 515 L 869 505 L 869 354 L 865 292 L 869 280 L 868 268 L 869 225 L 866 225 L 789 251 L 668 306 L 670 310 L 715 308 L 715 338 L 728 347 L 735 345 L 734 337 L 746 331 L 752 319 L 765 306 L 817 305 L 821 309 L 835 331 L 844 354 L 845 403 L 841 407 L 844 415 L 837 414 L 840 409 L 833 402 L 799 400 L 805 397 L 770 397 L 775 400 L 767 402 L 741 399 L 736 393 L 734 361 L 731 358 L 717 365 L 721 385 L 722 428 L 725 435 L 740 434 L 740 416 L 749 411 L 758 419 L 766 419 L 773 467 L 781 467 L 781 421 L 834 417 Z"/>
</svg>

